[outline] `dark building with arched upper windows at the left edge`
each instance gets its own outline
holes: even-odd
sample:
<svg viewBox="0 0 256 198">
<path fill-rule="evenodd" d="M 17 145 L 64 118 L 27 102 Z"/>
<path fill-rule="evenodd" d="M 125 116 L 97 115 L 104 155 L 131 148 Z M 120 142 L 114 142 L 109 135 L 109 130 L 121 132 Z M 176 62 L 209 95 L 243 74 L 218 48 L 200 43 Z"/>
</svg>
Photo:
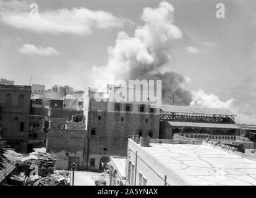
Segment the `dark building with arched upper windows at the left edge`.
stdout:
<svg viewBox="0 0 256 198">
<path fill-rule="evenodd" d="M 27 152 L 31 87 L 0 85 L 1 136 L 17 152 Z"/>
</svg>

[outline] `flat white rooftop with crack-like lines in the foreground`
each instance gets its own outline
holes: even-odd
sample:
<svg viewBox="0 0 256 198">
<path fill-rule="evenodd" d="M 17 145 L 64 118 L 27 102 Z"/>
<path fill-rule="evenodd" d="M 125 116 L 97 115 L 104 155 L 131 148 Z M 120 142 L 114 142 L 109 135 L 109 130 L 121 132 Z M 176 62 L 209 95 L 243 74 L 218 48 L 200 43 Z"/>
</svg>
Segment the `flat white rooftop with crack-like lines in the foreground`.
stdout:
<svg viewBox="0 0 256 198">
<path fill-rule="evenodd" d="M 129 145 L 174 185 L 256 185 L 256 162 L 224 150 L 196 144 L 141 147 L 132 140 Z"/>
</svg>

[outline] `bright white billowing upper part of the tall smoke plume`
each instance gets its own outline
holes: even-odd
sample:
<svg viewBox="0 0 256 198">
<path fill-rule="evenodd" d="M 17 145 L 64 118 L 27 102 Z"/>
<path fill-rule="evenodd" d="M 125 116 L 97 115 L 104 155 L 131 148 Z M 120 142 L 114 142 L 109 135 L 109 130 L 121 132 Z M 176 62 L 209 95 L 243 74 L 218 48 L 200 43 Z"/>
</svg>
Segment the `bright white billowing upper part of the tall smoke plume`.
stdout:
<svg viewBox="0 0 256 198">
<path fill-rule="evenodd" d="M 171 41 L 182 37 L 173 14 L 173 6 L 165 1 L 155 9 L 145 7 L 140 17 L 145 25 L 136 28 L 134 37 L 119 32 L 116 45 L 109 48 L 109 72 L 134 79 L 170 63 Z"/>
</svg>

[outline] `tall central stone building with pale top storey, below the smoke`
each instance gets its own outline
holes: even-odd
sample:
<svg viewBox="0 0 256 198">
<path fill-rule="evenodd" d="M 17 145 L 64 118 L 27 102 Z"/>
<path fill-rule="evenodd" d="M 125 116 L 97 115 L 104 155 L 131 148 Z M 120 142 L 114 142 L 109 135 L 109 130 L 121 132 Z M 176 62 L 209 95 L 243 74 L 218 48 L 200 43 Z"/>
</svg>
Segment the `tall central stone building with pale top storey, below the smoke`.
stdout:
<svg viewBox="0 0 256 198">
<path fill-rule="evenodd" d="M 120 86 L 108 85 L 99 92 L 85 89 L 84 115 L 87 145 L 85 163 L 89 170 L 101 170 L 110 155 L 125 156 L 127 140 L 133 134 L 158 138 L 160 109 L 150 101 L 121 100 L 111 97 Z M 134 92 L 133 87 L 127 87 Z"/>
</svg>

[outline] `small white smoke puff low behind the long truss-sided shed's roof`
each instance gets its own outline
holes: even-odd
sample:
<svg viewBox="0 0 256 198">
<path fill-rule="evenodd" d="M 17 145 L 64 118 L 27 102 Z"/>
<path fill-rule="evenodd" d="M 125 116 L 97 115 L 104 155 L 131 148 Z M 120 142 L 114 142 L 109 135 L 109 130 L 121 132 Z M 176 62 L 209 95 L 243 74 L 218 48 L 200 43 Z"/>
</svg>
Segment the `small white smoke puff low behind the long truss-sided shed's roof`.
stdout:
<svg viewBox="0 0 256 198">
<path fill-rule="evenodd" d="M 207 94 L 203 90 L 198 90 L 198 92 L 192 92 L 191 106 L 201 106 L 208 108 L 224 108 L 229 110 L 234 110 L 234 99 L 231 98 L 227 101 L 219 100 L 219 97 L 214 93 Z"/>
</svg>

